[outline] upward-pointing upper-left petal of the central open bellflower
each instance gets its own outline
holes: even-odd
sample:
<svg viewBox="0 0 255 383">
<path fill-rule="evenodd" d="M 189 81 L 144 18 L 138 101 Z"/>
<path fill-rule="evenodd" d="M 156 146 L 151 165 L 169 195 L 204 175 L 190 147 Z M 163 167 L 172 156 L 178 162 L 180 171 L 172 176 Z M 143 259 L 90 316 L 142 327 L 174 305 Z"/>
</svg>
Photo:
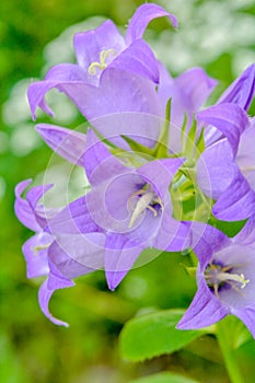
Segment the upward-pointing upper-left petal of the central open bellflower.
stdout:
<svg viewBox="0 0 255 383">
<path fill-rule="evenodd" d="M 91 129 L 88 131 L 83 160 L 88 179 L 93 186 L 128 171 Z"/>
</svg>

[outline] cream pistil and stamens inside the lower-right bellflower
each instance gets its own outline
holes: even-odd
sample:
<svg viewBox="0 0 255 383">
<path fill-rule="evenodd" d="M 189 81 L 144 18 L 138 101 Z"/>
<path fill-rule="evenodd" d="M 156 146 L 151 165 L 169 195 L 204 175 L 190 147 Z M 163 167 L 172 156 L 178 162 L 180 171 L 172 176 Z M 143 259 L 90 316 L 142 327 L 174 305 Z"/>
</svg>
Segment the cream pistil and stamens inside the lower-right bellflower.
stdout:
<svg viewBox="0 0 255 383">
<path fill-rule="evenodd" d="M 245 279 L 243 274 L 232 274 L 232 269 L 240 267 L 241 265 L 222 266 L 219 264 L 209 264 L 205 270 L 205 278 L 209 288 L 212 288 L 215 294 L 219 298 L 219 288 L 224 285 L 230 285 L 235 291 L 241 292 L 245 286 L 250 282 L 250 279 Z"/>
</svg>

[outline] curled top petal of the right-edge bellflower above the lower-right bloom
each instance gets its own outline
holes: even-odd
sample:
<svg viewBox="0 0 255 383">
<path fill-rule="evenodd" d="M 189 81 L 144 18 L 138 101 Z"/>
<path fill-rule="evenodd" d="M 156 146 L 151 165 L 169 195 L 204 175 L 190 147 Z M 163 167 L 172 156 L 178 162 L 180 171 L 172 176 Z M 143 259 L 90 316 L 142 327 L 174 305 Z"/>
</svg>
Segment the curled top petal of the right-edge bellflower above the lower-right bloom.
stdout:
<svg viewBox="0 0 255 383">
<path fill-rule="evenodd" d="M 248 117 L 239 105 L 218 104 L 199 112 L 196 118 L 219 129 L 228 138 L 234 155 L 236 154 L 240 136 L 248 126 Z M 209 126 L 208 129 L 210 128 Z"/>
</svg>

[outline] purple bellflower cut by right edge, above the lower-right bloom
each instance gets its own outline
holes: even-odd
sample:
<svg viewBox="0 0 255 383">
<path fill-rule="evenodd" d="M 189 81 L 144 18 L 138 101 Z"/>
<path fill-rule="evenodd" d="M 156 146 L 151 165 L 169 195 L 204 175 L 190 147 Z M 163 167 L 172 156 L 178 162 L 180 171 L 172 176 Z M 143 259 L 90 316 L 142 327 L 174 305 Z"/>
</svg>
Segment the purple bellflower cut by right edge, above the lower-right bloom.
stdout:
<svg viewBox="0 0 255 383">
<path fill-rule="evenodd" d="M 213 214 L 221 220 L 246 219 L 255 211 L 254 120 L 234 103 L 218 104 L 197 114 L 225 138 L 210 144 L 197 163 L 201 190 L 216 200 Z"/>
</svg>

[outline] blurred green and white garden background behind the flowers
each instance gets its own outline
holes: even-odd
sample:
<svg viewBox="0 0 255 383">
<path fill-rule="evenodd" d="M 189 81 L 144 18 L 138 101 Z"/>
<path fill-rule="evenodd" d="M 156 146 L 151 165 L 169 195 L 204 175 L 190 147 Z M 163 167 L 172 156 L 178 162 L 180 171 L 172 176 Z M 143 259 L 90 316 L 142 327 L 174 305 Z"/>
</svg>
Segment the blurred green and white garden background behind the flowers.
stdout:
<svg viewBox="0 0 255 383">
<path fill-rule="evenodd" d="M 61 61 L 72 61 L 72 35 L 95 27 L 105 18 L 125 31 L 137 0 L 2 0 L 0 4 L 0 382 L 1 383 L 121 383 L 169 370 L 199 382 L 229 382 L 212 336 L 195 340 L 184 350 L 132 364 L 121 360 L 118 334 L 135 314 L 155 309 L 187 307 L 196 286 L 182 267 L 183 256 L 164 254 L 132 270 L 115 292 L 108 292 L 103 271 L 82 277 L 77 287 L 57 292 L 51 311 L 70 324 L 53 325 L 40 313 L 40 280 L 27 280 L 21 247 L 32 233 L 13 213 L 13 188 L 35 178 L 51 152 L 37 137 L 26 102 L 34 79 Z M 219 80 L 212 96 L 255 61 L 255 4 L 253 0 L 157 3 L 174 13 L 177 32 L 166 20 L 154 21 L 146 37 L 157 56 L 176 76 L 202 66 Z M 101 18 L 95 18 L 101 16 Z M 93 19 L 91 19 L 93 18 Z M 57 98 L 55 101 L 55 98 Z M 77 127 L 77 109 L 54 94 L 51 123 Z M 49 121 L 38 114 L 38 121 Z M 61 165 L 61 161 L 59 160 Z M 255 376 L 255 345 L 237 351 L 245 382 Z"/>
</svg>

